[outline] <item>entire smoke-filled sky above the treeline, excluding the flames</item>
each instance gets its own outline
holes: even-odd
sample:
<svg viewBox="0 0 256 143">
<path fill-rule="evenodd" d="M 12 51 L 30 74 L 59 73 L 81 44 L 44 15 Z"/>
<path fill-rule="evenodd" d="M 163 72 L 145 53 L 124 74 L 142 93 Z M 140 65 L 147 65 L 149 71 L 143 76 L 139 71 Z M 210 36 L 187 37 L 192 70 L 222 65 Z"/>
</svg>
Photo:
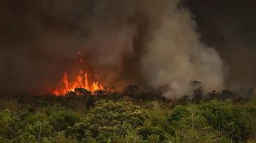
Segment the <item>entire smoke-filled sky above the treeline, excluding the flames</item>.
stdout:
<svg viewBox="0 0 256 143">
<path fill-rule="evenodd" d="M 256 3 L 203 0 L 3 0 L 0 89 L 53 90 L 63 72 L 84 69 L 104 85 L 167 86 L 188 94 L 255 87 Z"/>
</svg>

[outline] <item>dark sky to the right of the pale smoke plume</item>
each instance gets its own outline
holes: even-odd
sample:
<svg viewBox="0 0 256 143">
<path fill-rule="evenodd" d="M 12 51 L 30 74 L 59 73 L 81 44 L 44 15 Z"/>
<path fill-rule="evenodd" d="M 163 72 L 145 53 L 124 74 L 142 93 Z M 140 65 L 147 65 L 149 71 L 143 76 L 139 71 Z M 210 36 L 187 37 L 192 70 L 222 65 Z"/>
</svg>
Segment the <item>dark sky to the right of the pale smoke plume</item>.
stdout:
<svg viewBox="0 0 256 143">
<path fill-rule="evenodd" d="M 214 47 L 226 64 L 226 85 L 256 87 L 256 1 L 185 3 L 194 14 L 201 40 Z"/>
</svg>

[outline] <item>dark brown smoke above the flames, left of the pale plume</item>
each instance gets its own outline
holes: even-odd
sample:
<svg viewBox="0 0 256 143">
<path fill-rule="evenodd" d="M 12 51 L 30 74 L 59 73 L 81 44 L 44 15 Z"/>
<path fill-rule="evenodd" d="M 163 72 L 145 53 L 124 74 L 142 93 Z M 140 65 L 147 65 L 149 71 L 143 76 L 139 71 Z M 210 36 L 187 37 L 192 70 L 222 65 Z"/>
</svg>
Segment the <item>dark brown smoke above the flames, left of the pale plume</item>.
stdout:
<svg viewBox="0 0 256 143">
<path fill-rule="evenodd" d="M 154 1 L 152 1 L 155 3 Z M 139 56 L 147 27 L 145 1 L 1 1 L 1 89 L 44 93 L 77 51 L 84 67 L 109 85 L 143 83 Z M 136 74 L 135 74 L 136 73 Z"/>
</svg>

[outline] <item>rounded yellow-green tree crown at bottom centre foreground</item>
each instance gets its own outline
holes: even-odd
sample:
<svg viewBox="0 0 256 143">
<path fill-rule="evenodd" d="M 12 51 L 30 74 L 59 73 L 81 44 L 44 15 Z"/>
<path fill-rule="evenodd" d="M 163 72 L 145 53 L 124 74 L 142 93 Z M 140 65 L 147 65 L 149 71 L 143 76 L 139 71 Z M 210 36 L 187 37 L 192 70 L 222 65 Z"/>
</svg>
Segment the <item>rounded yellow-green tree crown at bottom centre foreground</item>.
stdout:
<svg viewBox="0 0 256 143">
<path fill-rule="evenodd" d="M 86 120 L 93 137 L 108 142 L 111 137 L 125 137 L 129 131 L 137 131 L 147 119 L 147 111 L 131 102 L 100 100 L 95 102 Z"/>
</svg>

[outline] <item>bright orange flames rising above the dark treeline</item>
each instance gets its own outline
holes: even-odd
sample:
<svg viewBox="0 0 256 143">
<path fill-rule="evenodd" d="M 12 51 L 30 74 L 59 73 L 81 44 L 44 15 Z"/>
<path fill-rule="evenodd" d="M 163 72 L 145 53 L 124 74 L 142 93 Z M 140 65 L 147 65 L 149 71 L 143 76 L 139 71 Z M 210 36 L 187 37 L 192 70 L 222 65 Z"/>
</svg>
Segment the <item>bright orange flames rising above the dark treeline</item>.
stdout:
<svg viewBox="0 0 256 143">
<path fill-rule="evenodd" d="M 76 80 L 73 82 L 70 82 L 68 80 L 68 74 L 65 72 L 62 78 L 62 83 L 63 83 L 62 87 L 56 88 L 55 91 L 53 91 L 53 94 L 57 96 L 65 95 L 68 92 L 75 91 L 75 89 L 77 88 L 86 89 L 88 91 L 91 91 L 92 93 L 94 91 L 103 90 L 104 87 L 100 85 L 98 81 L 99 80 L 98 76 L 96 77 L 97 77 L 97 81 L 89 84 L 88 74 L 87 73 L 84 74 L 83 71 L 80 71 L 80 73 L 77 74 L 76 76 Z"/>
</svg>

